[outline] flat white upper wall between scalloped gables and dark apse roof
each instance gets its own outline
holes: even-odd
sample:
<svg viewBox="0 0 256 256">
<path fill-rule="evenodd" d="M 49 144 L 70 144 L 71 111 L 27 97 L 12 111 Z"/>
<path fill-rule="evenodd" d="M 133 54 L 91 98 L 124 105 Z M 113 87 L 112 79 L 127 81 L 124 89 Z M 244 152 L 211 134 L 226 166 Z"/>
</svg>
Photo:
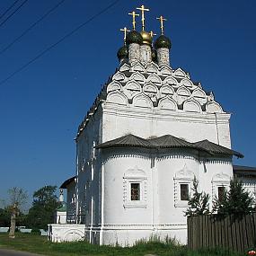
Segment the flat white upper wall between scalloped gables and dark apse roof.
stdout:
<svg viewBox="0 0 256 256">
<path fill-rule="evenodd" d="M 102 142 L 128 133 L 138 137 L 170 134 L 190 142 L 208 139 L 230 148 L 230 114 L 149 110 L 106 103 L 103 106 Z"/>
</svg>

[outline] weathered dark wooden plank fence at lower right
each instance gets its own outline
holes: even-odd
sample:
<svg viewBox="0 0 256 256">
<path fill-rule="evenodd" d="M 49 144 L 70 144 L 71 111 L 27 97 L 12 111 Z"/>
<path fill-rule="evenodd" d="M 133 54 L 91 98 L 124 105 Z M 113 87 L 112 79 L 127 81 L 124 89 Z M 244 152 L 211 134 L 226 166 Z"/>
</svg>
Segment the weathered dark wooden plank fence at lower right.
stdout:
<svg viewBox="0 0 256 256">
<path fill-rule="evenodd" d="M 243 217 L 188 217 L 188 246 L 192 250 L 222 247 L 234 252 L 256 249 L 256 213 Z"/>
</svg>

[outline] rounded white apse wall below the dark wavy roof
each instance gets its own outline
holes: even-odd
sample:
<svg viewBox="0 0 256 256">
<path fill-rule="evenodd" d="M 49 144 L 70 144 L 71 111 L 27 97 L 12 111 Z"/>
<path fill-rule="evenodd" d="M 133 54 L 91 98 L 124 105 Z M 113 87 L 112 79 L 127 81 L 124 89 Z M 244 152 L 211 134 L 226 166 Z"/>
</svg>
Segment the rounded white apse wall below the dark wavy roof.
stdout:
<svg viewBox="0 0 256 256">
<path fill-rule="evenodd" d="M 102 243 L 131 245 L 152 234 L 187 243 L 188 203 L 180 200 L 180 184 L 189 183 L 191 189 L 196 176 L 199 189 L 213 196 L 213 185 L 222 186 L 221 179 L 229 181 L 233 175 L 231 159 L 201 161 L 191 150 L 169 149 L 155 155 L 146 149 L 118 148 L 105 149 L 102 155 Z M 219 179 L 213 184 L 216 175 Z M 129 200 L 128 182 L 141 182 L 140 202 Z"/>
</svg>

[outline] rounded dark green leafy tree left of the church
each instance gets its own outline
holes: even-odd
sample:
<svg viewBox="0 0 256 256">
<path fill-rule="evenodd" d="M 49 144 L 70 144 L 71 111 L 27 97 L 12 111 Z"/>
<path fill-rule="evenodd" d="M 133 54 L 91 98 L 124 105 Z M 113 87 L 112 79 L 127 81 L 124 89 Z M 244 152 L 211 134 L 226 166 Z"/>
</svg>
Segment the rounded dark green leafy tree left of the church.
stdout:
<svg viewBox="0 0 256 256">
<path fill-rule="evenodd" d="M 27 216 L 27 225 L 31 228 L 47 229 L 54 222 L 57 207 L 60 203 L 55 194 L 57 186 L 44 186 L 33 194 L 32 207 Z"/>
</svg>

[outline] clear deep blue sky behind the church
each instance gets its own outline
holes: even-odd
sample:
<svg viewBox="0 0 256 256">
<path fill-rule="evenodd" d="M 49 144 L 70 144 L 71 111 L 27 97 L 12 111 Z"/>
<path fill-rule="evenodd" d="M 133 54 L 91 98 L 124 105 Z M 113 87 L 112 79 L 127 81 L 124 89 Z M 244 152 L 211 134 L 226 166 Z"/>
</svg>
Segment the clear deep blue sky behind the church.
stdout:
<svg viewBox="0 0 256 256">
<path fill-rule="evenodd" d="M 14 0 L 0 3 L 0 14 Z M 20 1 L 22 3 L 22 0 Z M 29 0 L 0 26 L 0 51 L 59 0 Z M 12 48 L 0 54 L 0 81 L 112 3 L 66 0 Z M 0 199 L 13 186 L 33 191 L 60 185 L 75 175 L 77 126 L 109 75 L 119 66 L 120 28 L 131 28 L 128 12 L 145 4 L 146 28 L 159 34 L 156 16 L 168 19 L 172 67 L 213 91 L 233 113 L 236 164 L 256 166 L 256 2 L 125 1 L 89 22 L 73 36 L 0 85 Z M 0 19 L 0 23 L 4 19 Z"/>
</svg>

